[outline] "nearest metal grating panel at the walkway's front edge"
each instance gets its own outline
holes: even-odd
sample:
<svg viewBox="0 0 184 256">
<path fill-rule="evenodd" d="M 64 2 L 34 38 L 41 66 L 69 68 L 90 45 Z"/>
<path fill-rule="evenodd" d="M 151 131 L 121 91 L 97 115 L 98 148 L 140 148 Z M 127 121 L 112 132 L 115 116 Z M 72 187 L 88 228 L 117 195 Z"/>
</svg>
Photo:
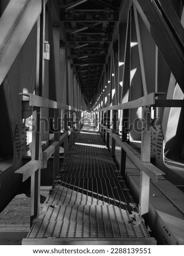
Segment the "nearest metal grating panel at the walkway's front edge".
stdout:
<svg viewBox="0 0 184 256">
<path fill-rule="evenodd" d="M 27 239 L 42 238 L 145 238 L 150 237 L 144 223 L 137 225 L 113 221 L 58 221 L 35 223 Z M 49 242 L 49 241 L 48 241 Z"/>
</svg>

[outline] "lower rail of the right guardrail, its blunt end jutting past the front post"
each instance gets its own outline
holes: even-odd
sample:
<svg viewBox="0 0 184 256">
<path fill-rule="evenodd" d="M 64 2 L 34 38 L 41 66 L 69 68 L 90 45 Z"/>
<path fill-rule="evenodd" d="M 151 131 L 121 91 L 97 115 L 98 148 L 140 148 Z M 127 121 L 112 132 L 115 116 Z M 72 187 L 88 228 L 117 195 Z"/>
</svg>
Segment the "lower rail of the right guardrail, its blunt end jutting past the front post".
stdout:
<svg viewBox="0 0 184 256">
<path fill-rule="evenodd" d="M 133 164 L 139 169 L 143 170 L 152 180 L 157 182 L 158 175 L 164 175 L 165 173 L 162 170 L 158 169 L 156 166 L 149 162 L 142 162 L 139 160 L 140 154 L 133 149 L 127 142 L 122 142 L 121 138 L 113 133 L 108 131 L 108 133 L 115 139 L 117 144 L 126 151 L 128 158 L 133 162 Z M 139 157 L 138 157 L 139 156 Z"/>
</svg>

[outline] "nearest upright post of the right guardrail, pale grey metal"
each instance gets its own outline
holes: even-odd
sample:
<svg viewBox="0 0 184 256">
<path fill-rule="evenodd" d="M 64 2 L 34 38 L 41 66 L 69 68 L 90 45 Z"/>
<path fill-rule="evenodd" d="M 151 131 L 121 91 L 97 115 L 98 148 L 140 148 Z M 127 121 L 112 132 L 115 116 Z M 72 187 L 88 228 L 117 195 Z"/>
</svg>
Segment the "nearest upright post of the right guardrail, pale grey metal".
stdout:
<svg viewBox="0 0 184 256">
<path fill-rule="evenodd" d="M 150 162 L 150 150 L 151 150 L 151 108 L 142 108 L 142 144 L 141 144 L 141 161 Z M 148 218 L 149 211 L 149 192 L 150 192 L 150 177 L 140 171 L 140 194 L 139 194 L 139 214 Z"/>
</svg>

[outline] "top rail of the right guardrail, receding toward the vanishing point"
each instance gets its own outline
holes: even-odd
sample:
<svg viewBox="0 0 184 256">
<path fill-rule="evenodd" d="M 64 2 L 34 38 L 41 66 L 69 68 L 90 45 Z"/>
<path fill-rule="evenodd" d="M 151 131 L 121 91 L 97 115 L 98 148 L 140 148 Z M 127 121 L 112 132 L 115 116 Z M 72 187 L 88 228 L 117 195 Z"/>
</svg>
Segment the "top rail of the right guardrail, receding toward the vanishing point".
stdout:
<svg viewBox="0 0 184 256">
<path fill-rule="evenodd" d="M 140 97 L 137 100 L 128 101 L 120 105 L 113 105 L 102 109 L 95 110 L 94 112 L 108 111 L 108 110 L 119 110 L 119 109 L 131 109 L 145 106 L 154 106 L 155 97 L 163 95 L 164 93 L 150 93 L 146 96 Z"/>
</svg>

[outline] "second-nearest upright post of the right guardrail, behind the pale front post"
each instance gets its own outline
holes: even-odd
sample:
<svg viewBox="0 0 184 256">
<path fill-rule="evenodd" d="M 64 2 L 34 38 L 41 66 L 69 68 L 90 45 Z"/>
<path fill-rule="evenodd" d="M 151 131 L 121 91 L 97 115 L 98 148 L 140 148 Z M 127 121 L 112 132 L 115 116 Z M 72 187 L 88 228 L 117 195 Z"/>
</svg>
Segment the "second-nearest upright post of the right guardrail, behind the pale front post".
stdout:
<svg viewBox="0 0 184 256">
<path fill-rule="evenodd" d="M 128 129 L 128 109 L 123 110 L 122 114 L 122 129 L 121 129 L 121 141 L 127 141 L 127 129 Z M 120 160 L 120 173 L 125 178 L 126 175 L 126 151 L 121 148 L 121 160 Z"/>
</svg>

